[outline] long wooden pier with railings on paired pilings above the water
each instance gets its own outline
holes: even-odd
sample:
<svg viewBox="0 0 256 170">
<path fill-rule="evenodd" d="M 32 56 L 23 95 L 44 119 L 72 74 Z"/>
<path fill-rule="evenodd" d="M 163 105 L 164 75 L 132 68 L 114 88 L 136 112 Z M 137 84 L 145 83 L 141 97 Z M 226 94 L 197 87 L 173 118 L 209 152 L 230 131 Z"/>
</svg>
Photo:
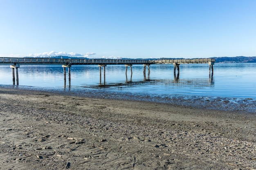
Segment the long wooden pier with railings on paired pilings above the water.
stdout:
<svg viewBox="0 0 256 170">
<path fill-rule="evenodd" d="M 1 57 L 0 65 L 10 65 L 12 68 L 13 75 L 13 85 L 15 85 L 15 71 L 16 71 L 16 84 L 19 84 L 18 80 L 18 68 L 20 65 L 61 65 L 64 72 L 64 85 L 66 85 L 66 68 L 68 69 L 68 78 L 69 86 L 71 79 L 71 70 L 72 65 L 90 65 L 95 64 L 99 66 L 99 75 L 100 75 L 100 84 L 101 84 L 101 67 L 103 67 L 103 81 L 105 85 L 105 67 L 107 65 L 114 64 L 124 64 L 126 66 L 126 77 L 127 77 L 127 68 L 130 67 L 130 72 L 132 75 L 132 65 L 141 64 L 144 66 L 143 74 L 144 78 L 146 77 L 146 67 L 148 68 L 148 77 L 150 74 L 150 64 L 173 64 L 174 66 L 174 77 L 179 79 L 180 74 L 180 64 L 209 64 L 209 77 L 213 76 L 213 65 L 215 59 L 180 59 L 180 60 L 115 60 L 115 59 L 63 59 L 63 58 L 36 58 L 36 57 L 24 57 L 24 58 L 12 58 L 12 57 Z M 16 68 L 16 69 L 15 69 Z M 176 75 L 177 70 L 177 75 Z"/>
</svg>

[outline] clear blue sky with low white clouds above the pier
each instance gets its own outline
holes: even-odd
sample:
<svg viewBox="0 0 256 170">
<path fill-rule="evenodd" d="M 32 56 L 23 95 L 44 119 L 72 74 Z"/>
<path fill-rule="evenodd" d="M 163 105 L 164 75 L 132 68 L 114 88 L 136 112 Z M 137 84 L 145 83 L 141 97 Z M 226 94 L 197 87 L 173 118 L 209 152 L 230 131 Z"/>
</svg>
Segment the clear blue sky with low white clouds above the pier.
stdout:
<svg viewBox="0 0 256 170">
<path fill-rule="evenodd" d="M 0 57 L 256 56 L 256 0 L 0 0 Z"/>
</svg>

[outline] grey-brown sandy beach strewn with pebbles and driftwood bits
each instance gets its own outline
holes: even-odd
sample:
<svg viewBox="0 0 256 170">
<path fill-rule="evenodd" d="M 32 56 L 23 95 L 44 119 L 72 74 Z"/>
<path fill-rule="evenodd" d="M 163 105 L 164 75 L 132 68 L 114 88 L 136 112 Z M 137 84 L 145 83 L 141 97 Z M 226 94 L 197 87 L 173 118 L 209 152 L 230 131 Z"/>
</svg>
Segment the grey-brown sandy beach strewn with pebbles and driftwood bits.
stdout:
<svg viewBox="0 0 256 170">
<path fill-rule="evenodd" d="M 255 170 L 255 113 L 0 88 L 2 170 Z"/>
</svg>

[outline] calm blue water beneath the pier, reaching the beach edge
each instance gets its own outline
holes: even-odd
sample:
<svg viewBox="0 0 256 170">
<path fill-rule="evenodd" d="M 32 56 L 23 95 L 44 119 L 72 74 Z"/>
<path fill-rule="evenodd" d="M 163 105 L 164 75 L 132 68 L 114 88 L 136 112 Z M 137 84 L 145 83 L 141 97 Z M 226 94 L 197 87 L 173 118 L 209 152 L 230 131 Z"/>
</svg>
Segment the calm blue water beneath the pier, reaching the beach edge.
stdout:
<svg viewBox="0 0 256 170">
<path fill-rule="evenodd" d="M 158 102 L 176 100 L 176 104 L 194 99 L 208 102 L 228 99 L 226 103 L 241 105 L 241 101 L 246 100 L 251 105 L 247 107 L 256 108 L 256 63 L 215 64 L 213 77 L 209 77 L 208 64 L 181 64 L 179 79 L 175 79 L 172 64 L 150 65 L 150 75 L 146 69 L 146 77 L 143 65 L 133 65 L 132 75 L 128 67 L 127 76 L 124 65 L 108 65 L 105 68 L 104 82 L 103 68 L 100 81 L 97 65 L 72 66 L 70 84 L 67 75 L 65 86 L 61 66 L 21 65 L 18 69 L 19 86 L 13 86 L 11 68 L 0 66 L 0 85 L 106 98 L 126 96 Z"/>
</svg>

